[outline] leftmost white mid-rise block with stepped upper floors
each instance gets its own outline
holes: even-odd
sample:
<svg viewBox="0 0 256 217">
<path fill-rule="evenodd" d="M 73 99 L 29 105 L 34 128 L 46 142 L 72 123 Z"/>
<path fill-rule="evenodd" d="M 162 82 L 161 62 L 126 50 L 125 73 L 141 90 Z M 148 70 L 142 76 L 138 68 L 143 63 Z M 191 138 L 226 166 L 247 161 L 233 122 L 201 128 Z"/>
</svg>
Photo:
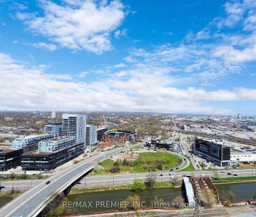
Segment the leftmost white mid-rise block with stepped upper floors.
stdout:
<svg viewBox="0 0 256 217">
<path fill-rule="evenodd" d="M 35 150 L 38 148 L 38 143 L 42 140 L 47 140 L 54 137 L 53 134 L 41 135 L 20 135 L 11 142 L 11 149 L 23 149 L 24 152 Z"/>
</svg>

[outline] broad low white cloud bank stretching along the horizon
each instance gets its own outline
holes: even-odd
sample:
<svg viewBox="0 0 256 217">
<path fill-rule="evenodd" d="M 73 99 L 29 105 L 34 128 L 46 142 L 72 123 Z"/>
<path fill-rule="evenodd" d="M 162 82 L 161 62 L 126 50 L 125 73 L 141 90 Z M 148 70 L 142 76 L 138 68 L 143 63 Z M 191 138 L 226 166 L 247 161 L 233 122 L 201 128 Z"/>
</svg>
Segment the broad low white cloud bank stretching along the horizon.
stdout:
<svg viewBox="0 0 256 217">
<path fill-rule="evenodd" d="M 66 75 L 49 75 L 42 68 L 28 67 L 0 53 L 0 110 L 208 113 L 212 107 L 204 105 L 207 102 L 256 100 L 256 89 L 206 91 L 172 87 L 173 79 L 162 68 L 138 65 L 118 73 L 122 75 L 104 77 L 98 82 L 63 81 L 58 79 Z M 228 112 L 234 111 L 215 109 L 216 114 Z"/>
</svg>

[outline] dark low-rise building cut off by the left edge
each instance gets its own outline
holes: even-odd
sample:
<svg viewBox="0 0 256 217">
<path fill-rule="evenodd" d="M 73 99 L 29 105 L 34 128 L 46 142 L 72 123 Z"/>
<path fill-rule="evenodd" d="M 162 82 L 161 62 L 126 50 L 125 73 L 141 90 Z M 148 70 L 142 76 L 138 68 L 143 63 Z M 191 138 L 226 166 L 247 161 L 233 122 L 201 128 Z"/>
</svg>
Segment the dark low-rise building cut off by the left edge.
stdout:
<svg viewBox="0 0 256 217">
<path fill-rule="evenodd" d="M 0 149 L 0 171 L 10 170 L 20 165 L 22 149 Z"/>
</svg>

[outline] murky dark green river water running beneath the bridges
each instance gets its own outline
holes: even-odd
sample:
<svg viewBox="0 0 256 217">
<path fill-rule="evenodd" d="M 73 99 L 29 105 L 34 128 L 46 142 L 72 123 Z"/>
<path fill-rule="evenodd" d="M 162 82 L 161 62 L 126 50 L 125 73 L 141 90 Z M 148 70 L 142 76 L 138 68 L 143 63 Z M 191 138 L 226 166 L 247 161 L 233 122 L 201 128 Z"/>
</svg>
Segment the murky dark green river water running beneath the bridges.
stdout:
<svg viewBox="0 0 256 217">
<path fill-rule="evenodd" d="M 239 201 L 254 199 L 254 196 L 256 197 L 256 182 L 243 184 L 215 184 L 215 187 L 218 189 L 218 193 L 222 200 Z M 108 207 L 107 202 L 112 202 L 112 204 L 117 204 L 118 206 L 118 203 L 115 202 L 122 202 L 126 200 L 127 197 L 134 194 L 135 193 L 131 190 L 112 190 L 97 193 L 67 195 L 66 199 L 71 205 L 76 202 L 81 202 L 83 204 L 81 207 L 76 208 L 78 213 L 90 213 L 94 211 L 113 210 L 116 207 L 113 205 Z M 150 206 L 152 197 L 154 196 L 162 198 L 164 202 L 172 202 L 173 198 L 182 195 L 180 188 L 143 190 L 137 194 L 141 197 L 141 201 L 145 202 L 143 204 L 145 207 Z M 10 200 L 12 200 L 10 197 L 0 197 L 0 207 Z M 99 200 L 103 201 L 103 203 L 97 205 L 97 201 Z M 92 206 L 90 206 L 90 203 Z"/>
</svg>

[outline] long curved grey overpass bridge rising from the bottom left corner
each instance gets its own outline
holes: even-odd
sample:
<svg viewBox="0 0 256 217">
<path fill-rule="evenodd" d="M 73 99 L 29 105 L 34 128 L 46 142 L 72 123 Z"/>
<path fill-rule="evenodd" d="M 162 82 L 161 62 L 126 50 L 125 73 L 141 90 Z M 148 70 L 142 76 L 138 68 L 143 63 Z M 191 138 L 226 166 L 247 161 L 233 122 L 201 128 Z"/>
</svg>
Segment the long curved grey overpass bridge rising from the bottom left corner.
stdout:
<svg viewBox="0 0 256 217">
<path fill-rule="evenodd" d="M 57 194 L 69 192 L 71 187 L 76 184 L 78 180 L 93 169 L 94 165 L 121 151 L 127 151 L 130 148 L 131 147 L 121 147 L 103 152 L 62 170 L 1 207 L 0 217 L 38 216 Z M 50 181 L 50 184 L 45 184 L 46 181 Z"/>
</svg>

